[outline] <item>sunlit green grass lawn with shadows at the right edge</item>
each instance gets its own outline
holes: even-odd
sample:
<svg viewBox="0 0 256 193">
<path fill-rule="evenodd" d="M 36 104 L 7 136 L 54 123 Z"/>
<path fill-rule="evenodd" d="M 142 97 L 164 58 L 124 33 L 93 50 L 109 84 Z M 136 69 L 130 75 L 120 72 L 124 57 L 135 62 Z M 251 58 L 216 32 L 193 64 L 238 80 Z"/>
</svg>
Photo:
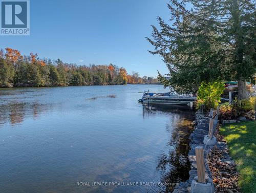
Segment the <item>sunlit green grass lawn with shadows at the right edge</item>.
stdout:
<svg viewBox="0 0 256 193">
<path fill-rule="evenodd" d="M 226 124 L 220 128 L 237 163 L 243 193 L 256 192 L 256 121 Z"/>
</svg>

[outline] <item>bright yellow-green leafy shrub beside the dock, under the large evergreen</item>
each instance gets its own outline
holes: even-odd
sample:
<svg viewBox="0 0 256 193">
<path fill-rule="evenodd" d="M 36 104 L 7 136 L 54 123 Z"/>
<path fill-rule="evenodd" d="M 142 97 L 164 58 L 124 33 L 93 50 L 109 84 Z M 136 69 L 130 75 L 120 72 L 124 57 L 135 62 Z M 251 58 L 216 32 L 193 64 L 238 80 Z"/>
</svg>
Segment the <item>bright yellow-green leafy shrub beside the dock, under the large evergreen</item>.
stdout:
<svg viewBox="0 0 256 193">
<path fill-rule="evenodd" d="M 218 104 L 221 102 L 221 95 L 225 89 L 224 82 L 202 82 L 197 97 L 197 108 L 204 104 L 206 110 L 211 108 L 217 108 Z"/>
</svg>

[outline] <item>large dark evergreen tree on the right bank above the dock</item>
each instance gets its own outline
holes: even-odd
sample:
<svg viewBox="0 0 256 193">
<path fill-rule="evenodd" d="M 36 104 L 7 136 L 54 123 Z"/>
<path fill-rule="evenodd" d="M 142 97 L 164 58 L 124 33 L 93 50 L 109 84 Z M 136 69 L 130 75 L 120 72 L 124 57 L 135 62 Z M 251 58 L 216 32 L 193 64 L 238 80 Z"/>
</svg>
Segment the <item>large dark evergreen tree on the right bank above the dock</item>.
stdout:
<svg viewBox="0 0 256 193">
<path fill-rule="evenodd" d="M 186 9 L 187 4 L 192 9 Z M 180 93 L 197 92 L 202 81 L 238 80 L 239 98 L 247 98 L 245 81 L 256 72 L 255 6 L 253 1 L 171 0 L 172 25 L 158 17 L 147 38 L 163 57 L 169 80 Z"/>
</svg>

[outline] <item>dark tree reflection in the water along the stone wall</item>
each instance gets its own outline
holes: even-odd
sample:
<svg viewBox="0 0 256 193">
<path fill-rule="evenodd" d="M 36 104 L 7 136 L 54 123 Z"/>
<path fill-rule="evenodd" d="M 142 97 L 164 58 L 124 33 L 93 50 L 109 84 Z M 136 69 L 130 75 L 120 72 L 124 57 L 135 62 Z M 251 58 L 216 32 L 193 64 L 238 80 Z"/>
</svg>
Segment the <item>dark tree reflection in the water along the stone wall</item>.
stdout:
<svg viewBox="0 0 256 193">
<path fill-rule="evenodd" d="M 175 113 L 170 116 L 166 124 L 166 131 L 170 134 L 168 152 L 161 152 L 156 166 L 161 175 L 161 186 L 158 192 L 172 192 L 177 183 L 189 178 L 190 163 L 188 160 L 189 136 L 193 132 L 191 121 L 193 115 L 191 107 L 187 105 L 146 105 L 143 108 L 143 116 L 152 116 L 159 112 Z"/>
</svg>

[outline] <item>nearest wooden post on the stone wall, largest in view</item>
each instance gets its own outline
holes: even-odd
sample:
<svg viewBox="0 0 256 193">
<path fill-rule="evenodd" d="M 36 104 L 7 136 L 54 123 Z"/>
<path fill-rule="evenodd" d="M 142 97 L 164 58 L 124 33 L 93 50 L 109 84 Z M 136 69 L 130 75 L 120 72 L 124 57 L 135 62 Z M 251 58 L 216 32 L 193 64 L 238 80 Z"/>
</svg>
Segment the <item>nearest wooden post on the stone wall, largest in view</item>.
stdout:
<svg viewBox="0 0 256 193">
<path fill-rule="evenodd" d="M 205 183 L 205 170 L 204 170 L 204 148 L 201 146 L 196 147 L 197 158 L 197 176 L 199 183 Z"/>
</svg>

